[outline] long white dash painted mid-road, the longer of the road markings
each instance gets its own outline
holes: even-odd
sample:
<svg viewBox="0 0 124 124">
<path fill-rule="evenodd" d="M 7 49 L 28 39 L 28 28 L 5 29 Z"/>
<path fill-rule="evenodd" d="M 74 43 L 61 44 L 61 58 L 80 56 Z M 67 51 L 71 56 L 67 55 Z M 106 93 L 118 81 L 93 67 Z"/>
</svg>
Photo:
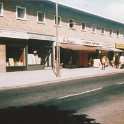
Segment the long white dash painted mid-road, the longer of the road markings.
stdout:
<svg viewBox="0 0 124 124">
<path fill-rule="evenodd" d="M 84 91 L 84 92 L 80 92 L 80 93 L 69 94 L 69 95 L 66 95 L 66 96 L 59 97 L 57 99 L 64 99 L 64 98 L 69 98 L 69 97 L 73 97 L 73 96 L 78 96 L 78 95 L 82 95 L 82 94 L 98 91 L 98 90 L 101 90 L 101 89 L 103 89 L 103 87 L 99 87 L 99 88 L 96 88 L 96 89 L 92 89 L 92 90 L 88 90 L 88 91 Z"/>
</svg>

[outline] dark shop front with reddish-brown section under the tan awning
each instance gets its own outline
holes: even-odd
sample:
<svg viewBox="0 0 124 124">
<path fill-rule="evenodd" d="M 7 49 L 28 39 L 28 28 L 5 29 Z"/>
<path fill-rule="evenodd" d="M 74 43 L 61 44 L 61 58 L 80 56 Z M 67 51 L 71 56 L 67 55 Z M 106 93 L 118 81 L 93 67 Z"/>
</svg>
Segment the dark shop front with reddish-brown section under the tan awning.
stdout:
<svg viewBox="0 0 124 124">
<path fill-rule="evenodd" d="M 97 54 L 96 47 L 70 43 L 61 43 L 60 47 L 60 61 L 65 68 L 92 66 L 91 59 Z"/>
</svg>

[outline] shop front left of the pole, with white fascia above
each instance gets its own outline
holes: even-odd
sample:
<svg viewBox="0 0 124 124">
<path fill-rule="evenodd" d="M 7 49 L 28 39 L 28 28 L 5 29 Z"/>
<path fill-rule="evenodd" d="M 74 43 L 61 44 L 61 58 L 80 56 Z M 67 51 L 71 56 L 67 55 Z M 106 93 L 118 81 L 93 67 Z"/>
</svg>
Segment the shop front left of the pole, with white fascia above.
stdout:
<svg viewBox="0 0 124 124">
<path fill-rule="evenodd" d="M 24 39 L 16 33 L 0 36 L 0 72 L 40 70 L 52 66 L 53 37 L 26 36 Z"/>
</svg>

